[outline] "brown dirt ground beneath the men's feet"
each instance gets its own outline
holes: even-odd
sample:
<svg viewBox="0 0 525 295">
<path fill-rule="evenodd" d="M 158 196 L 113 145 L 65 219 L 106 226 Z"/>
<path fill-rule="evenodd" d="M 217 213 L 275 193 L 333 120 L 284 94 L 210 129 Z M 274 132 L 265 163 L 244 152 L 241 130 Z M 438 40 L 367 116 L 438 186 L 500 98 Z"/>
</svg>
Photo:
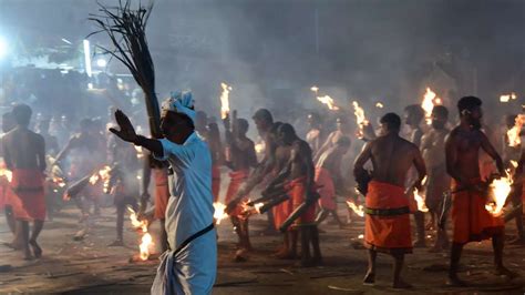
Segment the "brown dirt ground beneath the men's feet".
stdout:
<svg viewBox="0 0 525 295">
<path fill-rule="evenodd" d="M 341 206 L 342 207 L 342 204 Z M 93 221 L 92 228 L 82 241 L 73 241 L 81 230 L 78 211 L 66 207 L 45 224 L 41 236 L 43 257 L 24 262 L 19 252 L 0 246 L 0 293 L 37 294 L 147 294 L 156 271 L 157 261 L 131 263 L 138 252 L 138 235 L 126 222 L 126 247 L 107 247 L 115 234 L 115 210 L 107 207 Z M 346 216 L 346 211 L 340 210 Z M 322 267 L 300 268 L 294 261 L 279 261 L 271 256 L 280 236 L 261 235 L 266 216 L 251 222 L 255 252 L 246 262 L 234 262 L 235 236 L 228 221 L 218 226 L 219 264 L 214 294 L 384 294 L 390 288 L 391 258 L 378 258 L 378 282 L 374 287 L 363 286 L 367 267 L 366 251 L 359 246 L 363 231 L 362 218 L 348 228 L 325 222 L 320 228 Z M 513 234 L 513 225 L 507 234 Z M 157 232 L 158 224 L 151 232 Z M 3 215 L 0 216 L 0 241 L 11 238 Z M 156 236 L 154 235 L 154 238 Z M 414 285 L 410 294 L 524 294 L 525 248 L 507 246 L 505 261 L 521 276 L 514 281 L 492 273 L 492 250 L 488 242 L 470 244 L 462 260 L 461 277 L 470 283 L 465 288 L 445 286 L 449 255 L 430 254 L 418 248 L 406 256 L 404 276 Z"/>
</svg>

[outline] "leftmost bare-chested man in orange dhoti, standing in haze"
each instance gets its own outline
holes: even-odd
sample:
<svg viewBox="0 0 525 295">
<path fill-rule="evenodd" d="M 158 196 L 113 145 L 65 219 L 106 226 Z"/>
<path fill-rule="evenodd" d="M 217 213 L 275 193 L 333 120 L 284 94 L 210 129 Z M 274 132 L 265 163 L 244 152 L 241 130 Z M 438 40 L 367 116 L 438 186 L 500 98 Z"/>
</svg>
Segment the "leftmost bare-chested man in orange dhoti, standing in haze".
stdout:
<svg viewBox="0 0 525 295">
<path fill-rule="evenodd" d="M 16 105 L 12 114 L 17 126 L 2 140 L 3 156 L 6 165 L 12 171 L 11 187 L 20 201 L 20 205 L 13 207 L 13 213 L 23 255 L 25 260 L 31 260 L 33 255 L 42 256 L 37 238 L 45 221 L 45 143 L 41 135 L 28 129 L 32 114 L 29 105 Z M 33 221 L 31 235 L 30 221 Z"/>
</svg>

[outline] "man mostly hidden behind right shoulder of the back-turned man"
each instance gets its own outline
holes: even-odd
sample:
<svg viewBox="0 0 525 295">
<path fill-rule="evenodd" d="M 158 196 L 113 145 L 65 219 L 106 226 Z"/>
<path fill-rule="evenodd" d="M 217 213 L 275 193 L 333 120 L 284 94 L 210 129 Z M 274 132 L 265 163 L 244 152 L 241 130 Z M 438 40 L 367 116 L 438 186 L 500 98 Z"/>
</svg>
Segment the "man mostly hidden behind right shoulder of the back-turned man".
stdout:
<svg viewBox="0 0 525 295">
<path fill-rule="evenodd" d="M 411 104 L 404 108 L 404 122 L 410 129 L 408 134 L 408 140 L 415 144 L 418 148 L 421 146 L 421 138 L 423 136 L 423 131 L 421 130 L 421 122 L 424 119 L 424 110 L 419 104 Z M 415 176 L 415 171 L 410 170 L 408 177 L 409 185 L 413 182 Z M 412 196 L 411 196 L 412 197 Z M 413 201 L 415 203 L 415 201 Z M 415 242 L 414 247 L 424 247 L 425 234 L 424 234 L 424 213 L 418 211 L 416 208 L 413 212 L 414 222 L 415 222 Z"/>
</svg>

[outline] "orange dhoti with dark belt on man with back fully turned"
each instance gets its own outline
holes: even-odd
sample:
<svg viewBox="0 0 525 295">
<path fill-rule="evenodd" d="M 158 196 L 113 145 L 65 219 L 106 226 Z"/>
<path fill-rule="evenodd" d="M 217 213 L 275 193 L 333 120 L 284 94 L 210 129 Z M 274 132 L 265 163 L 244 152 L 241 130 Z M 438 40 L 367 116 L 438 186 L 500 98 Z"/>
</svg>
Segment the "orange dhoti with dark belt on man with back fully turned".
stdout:
<svg viewBox="0 0 525 295">
<path fill-rule="evenodd" d="M 412 253 L 409 199 L 404 187 L 371 181 L 364 212 L 366 247 L 384 253 Z"/>
</svg>

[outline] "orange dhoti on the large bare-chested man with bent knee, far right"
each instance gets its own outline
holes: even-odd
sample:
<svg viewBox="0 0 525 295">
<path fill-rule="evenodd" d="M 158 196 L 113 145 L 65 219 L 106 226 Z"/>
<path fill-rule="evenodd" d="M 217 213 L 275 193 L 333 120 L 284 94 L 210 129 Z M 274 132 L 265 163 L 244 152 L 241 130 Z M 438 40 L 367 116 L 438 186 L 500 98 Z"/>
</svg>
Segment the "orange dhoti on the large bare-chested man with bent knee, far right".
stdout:
<svg viewBox="0 0 525 295">
<path fill-rule="evenodd" d="M 457 191 L 454 184 L 452 191 Z M 503 216 L 495 217 L 485 210 L 486 197 L 477 191 L 461 189 L 452 196 L 453 241 L 457 244 L 478 242 L 503 234 Z"/>
</svg>

